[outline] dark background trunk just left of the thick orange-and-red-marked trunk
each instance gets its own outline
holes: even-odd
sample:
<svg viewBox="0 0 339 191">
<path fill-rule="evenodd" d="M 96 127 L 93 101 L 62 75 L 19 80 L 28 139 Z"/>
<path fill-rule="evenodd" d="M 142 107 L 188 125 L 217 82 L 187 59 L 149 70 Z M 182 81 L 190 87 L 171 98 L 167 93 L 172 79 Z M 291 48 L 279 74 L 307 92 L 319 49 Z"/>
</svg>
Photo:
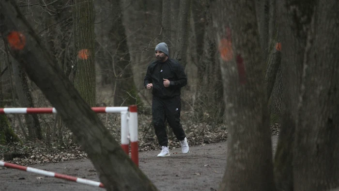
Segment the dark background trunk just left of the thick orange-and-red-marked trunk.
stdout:
<svg viewBox="0 0 339 191">
<path fill-rule="evenodd" d="M 202 53 L 200 53 L 200 59 L 198 60 L 198 85 L 194 102 L 195 112 L 198 119 L 208 119 L 210 123 L 216 125 L 223 122 L 223 115 L 225 111 L 225 105 L 223 103 L 223 82 L 220 71 L 220 61 L 217 58 L 215 28 L 213 26 L 212 10 L 214 7 L 210 7 L 209 1 L 201 2 L 206 13 L 202 20 L 204 20 L 204 37 L 196 38 L 197 45 L 201 47 Z M 207 3 L 207 4 L 203 4 Z M 201 6 L 202 6 L 201 5 Z M 200 22 L 201 19 L 195 20 Z M 200 25 L 200 24 L 199 24 Z M 196 27 L 198 29 L 198 25 Z M 200 27 L 199 27 L 200 28 Z M 203 40 L 204 42 L 198 43 Z M 197 53 L 200 50 L 197 48 Z M 205 118 L 205 114 L 208 116 Z"/>
</svg>

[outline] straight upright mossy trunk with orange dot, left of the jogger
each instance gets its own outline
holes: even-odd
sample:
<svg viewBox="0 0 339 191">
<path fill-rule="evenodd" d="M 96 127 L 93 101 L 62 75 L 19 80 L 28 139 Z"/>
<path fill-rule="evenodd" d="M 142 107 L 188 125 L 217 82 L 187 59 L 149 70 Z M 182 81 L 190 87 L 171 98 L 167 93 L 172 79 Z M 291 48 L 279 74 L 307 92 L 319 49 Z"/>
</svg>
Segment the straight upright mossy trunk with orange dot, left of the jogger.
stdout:
<svg viewBox="0 0 339 191">
<path fill-rule="evenodd" d="M 75 76 L 74 86 L 82 98 L 96 106 L 96 80 L 94 63 L 94 6 L 92 0 L 74 0 L 72 6 Z"/>
</svg>

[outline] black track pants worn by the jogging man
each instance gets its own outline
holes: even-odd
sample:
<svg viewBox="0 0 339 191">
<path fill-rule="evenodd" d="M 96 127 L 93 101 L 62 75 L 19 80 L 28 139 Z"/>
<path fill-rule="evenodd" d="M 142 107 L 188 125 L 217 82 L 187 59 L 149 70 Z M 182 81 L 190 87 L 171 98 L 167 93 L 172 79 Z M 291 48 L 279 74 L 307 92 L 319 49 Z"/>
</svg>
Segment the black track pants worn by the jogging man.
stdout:
<svg viewBox="0 0 339 191">
<path fill-rule="evenodd" d="M 165 120 L 167 119 L 173 133 L 179 141 L 185 139 L 186 135 L 180 123 L 181 100 L 180 96 L 168 99 L 153 96 L 152 115 L 154 131 L 158 138 L 160 146 L 168 146 L 168 138 L 165 128 Z"/>
</svg>

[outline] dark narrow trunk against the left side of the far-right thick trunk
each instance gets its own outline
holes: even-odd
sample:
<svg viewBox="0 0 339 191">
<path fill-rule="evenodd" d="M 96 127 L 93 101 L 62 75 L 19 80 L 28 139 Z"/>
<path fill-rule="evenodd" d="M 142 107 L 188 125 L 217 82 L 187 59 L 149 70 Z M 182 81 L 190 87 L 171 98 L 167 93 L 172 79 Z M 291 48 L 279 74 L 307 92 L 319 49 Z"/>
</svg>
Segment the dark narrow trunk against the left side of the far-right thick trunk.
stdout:
<svg viewBox="0 0 339 191">
<path fill-rule="evenodd" d="M 285 5 L 277 1 L 277 25 L 281 33 L 281 75 L 282 75 L 282 111 L 281 128 L 274 159 L 274 172 L 277 190 L 293 191 L 293 142 L 297 120 L 297 104 L 301 79 L 304 42 L 291 35 L 288 19 L 284 18 Z M 289 56 L 293 55 L 293 56 Z"/>
</svg>

